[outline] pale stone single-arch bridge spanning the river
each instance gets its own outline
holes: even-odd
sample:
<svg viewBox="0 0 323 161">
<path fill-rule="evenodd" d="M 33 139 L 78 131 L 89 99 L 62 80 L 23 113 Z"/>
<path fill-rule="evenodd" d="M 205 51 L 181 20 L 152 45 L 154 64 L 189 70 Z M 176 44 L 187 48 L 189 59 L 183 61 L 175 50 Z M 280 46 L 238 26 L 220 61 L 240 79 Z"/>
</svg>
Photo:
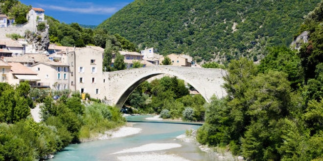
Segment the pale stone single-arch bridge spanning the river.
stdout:
<svg viewBox="0 0 323 161">
<path fill-rule="evenodd" d="M 215 95 L 222 98 L 226 91 L 221 87 L 225 70 L 210 68 L 179 67 L 170 65 L 158 65 L 152 67 L 104 72 L 108 81 L 108 89 L 105 96 L 110 104 L 122 107 L 133 90 L 143 81 L 151 77 L 169 74 L 178 79 L 185 80 L 192 85 L 209 102 Z M 106 86 L 105 86 L 106 87 Z"/>
</svg>

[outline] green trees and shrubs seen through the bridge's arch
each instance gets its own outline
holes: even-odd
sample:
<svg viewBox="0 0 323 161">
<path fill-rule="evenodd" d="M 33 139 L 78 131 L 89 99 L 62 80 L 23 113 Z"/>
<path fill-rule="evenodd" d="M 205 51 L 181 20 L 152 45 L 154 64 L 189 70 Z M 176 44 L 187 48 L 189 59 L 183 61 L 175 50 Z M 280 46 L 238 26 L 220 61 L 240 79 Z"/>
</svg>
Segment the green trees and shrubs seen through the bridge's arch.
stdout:
<svg viewBox="0 0 323 161">
<path fill-rule="evenodd" d="M 184 80 L 163 77 L 140 84 L 125 104 L 132 106 L 130 113 L 157 113 L 164 119 L 204 121 L 204 103 L 201 95 L 189 95 Z"/>
</svg>

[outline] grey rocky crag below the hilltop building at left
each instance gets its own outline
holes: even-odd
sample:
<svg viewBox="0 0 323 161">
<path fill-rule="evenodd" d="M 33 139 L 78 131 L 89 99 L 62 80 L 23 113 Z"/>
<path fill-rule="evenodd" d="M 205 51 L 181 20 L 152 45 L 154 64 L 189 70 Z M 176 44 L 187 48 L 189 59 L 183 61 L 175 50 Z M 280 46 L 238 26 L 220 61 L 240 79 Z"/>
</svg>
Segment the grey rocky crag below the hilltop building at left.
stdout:
<svg viewBox="0 0 323 161">
<path fill-rule="evenodd" d="M 49 25 L 46 24 L 45 28 L 41 31 L 25 32 L 25 38 L 29 44 L 32 45 L 32 50 L 35 53 L 44 53 L 49 46 Z"/>
</svg>

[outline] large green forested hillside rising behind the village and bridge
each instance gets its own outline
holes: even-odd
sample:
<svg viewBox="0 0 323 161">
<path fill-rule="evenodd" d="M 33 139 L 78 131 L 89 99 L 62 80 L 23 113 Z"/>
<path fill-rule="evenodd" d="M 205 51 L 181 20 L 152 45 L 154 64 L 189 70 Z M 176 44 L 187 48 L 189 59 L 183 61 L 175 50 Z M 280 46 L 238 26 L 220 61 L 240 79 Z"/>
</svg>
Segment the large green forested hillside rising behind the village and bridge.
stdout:
<svg viewBox="0 0 323 161">
<path fill-rule="evenodd" d="M 135 0 L 98 25 L 162 55 L 197 61 L 262 58 L 265 46 L 289 45 L 303 16 L 321 0 Z"/>
</svg>

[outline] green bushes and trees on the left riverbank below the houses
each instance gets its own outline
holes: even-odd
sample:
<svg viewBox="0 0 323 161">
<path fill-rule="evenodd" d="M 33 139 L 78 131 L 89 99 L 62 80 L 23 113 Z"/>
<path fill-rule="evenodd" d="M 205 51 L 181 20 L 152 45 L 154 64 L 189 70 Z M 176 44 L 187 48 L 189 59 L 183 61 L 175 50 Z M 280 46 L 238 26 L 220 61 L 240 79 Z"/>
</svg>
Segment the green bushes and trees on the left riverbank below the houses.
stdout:
<svg viewBox="0 0 323 161">
<path fill-rule="evenodd" d="M 15 87 L 0 83 L 1 161 L 44 160 L 69 143 L 93 139 L 125 122 L 118 108 L 101 103 L 85 106 L 77 92 L 68 98 L 68 90 L 55 91 L 61 98 L 54 101 L 49 92 L 30 89 L 28 82 Z M 42 122 L 29 117 L 31 96 L 43 102 Z"/>
</svg>

